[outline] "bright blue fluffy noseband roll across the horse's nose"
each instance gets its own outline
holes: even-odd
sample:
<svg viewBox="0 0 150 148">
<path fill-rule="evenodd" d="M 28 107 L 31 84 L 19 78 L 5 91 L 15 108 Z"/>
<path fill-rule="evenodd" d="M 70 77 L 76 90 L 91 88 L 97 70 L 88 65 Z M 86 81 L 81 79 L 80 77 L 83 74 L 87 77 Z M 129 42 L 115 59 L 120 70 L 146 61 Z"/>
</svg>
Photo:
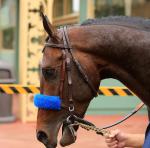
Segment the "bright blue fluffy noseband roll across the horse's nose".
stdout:
<svg viewBox="0 0 150 148">
<path fill-rule="evenodd" d="M 60 110 L 61 99 L 59 96 L 36 94 L 34 96 L 34 105 L 41 109 Z"/>
</svg>

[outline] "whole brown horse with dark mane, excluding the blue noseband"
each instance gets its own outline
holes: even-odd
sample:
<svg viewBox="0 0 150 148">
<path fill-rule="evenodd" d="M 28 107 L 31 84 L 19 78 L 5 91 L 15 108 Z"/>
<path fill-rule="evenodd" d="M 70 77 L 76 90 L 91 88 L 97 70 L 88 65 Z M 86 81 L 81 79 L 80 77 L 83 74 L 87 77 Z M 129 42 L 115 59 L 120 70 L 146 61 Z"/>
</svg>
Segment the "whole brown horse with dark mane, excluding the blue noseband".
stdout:
<svg viewBox="0 0 150 148">
<path fill-rule="evenodd" d="M 108 17 L 57 31 L 46 21 L 43 19 L 49 37 L 43 50 L 41 93 L 61 95 L 65 104 L 60 111 L 38 110 L 37 138 L 47 148 L 57 146 L 60 126 L 72 104 L 74 113 L 84 117 L 103 79 L 121 81 L 150 107 L 149 20 Z M 73 142 L 71 131 L 64 127 L 60 144 Z"/>
</svg>

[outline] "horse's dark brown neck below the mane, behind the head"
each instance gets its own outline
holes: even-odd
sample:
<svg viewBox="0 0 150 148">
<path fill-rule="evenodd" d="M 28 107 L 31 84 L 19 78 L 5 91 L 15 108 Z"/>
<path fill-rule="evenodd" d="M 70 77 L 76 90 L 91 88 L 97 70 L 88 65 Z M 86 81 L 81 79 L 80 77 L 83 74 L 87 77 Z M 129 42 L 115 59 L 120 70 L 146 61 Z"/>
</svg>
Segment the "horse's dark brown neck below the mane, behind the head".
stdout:
<svg viewBox="0 0 150 148">
<path fill-rule="evenodd" d="M 150 58 L 145 52 L 150 47 L 148 42 L 145 42 L 148 34 L 110 25 L 86 26 L 80 32 L 82 35 L 78 41 L 78 48 L 93 56 L 95 64 L 99 67 L 101 79 L 115 78 L 121 81 L 149 105 L 150 82 L 144 82 L 146 78 L 143 78 L 143 70 L 147 69 L 140 68 L 145 58 Z M 150 73 L 148 75 L 150 76 Z"/>
</svg>

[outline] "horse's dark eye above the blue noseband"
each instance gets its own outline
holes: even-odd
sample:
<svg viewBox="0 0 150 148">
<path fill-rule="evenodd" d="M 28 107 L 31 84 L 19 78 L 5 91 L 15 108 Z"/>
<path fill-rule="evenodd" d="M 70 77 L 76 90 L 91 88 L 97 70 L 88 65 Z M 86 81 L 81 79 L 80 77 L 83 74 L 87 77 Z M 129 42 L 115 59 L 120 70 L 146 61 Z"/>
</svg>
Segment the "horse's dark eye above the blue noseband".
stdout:
<svg viewBox="0 0 150 148">
<path fill-rule="evenodd" d="M 42 74 L 45 80 L 52 80 L 56 78 L 57 71 L 56 69 L 52 69 L 52 68 L 43 68 Z"/>
</svg>

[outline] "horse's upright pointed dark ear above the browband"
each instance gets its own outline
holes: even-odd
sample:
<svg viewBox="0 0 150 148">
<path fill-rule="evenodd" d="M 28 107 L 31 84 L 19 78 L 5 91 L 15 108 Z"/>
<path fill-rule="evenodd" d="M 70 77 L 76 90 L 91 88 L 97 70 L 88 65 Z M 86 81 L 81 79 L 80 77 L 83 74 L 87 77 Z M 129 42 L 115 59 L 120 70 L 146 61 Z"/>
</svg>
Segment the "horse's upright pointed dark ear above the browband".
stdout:
<svg viewBox="0 0 150 148">
<path fill-rule="evenodd" d="M 56 36 L 56 31 L 54 31 L 54 28 L 52 27 L 48 17 L 41 12 L 41 17 L 43 20 L 43 27 L 50 38 L 53 40 L 58 40 L 58 37 Z"/>
</svg>

